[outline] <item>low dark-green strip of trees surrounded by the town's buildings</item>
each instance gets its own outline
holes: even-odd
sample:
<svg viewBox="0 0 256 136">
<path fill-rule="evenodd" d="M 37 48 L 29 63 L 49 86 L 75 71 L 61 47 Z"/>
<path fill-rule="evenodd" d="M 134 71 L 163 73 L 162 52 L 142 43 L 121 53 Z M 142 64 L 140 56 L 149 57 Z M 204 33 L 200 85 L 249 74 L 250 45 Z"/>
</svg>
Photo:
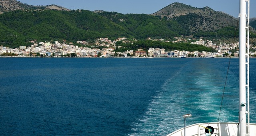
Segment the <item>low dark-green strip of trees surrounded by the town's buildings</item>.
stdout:
<svg viewBox="0 0 256 136">
<path fill-rule="evenodd" d="M 148 51 L 149 48 L 164 48 L 166 51 L 172 50 L 186 50 L 186 51 L 207 51 L 215 52 L 214 48 L 208 48 L 203 45 L 189 44 L 189 43 L 172 43 L 172 42 L 161 42 L 161 41 L 152 41 L 152 40 L 138 40 L 134 44 L 128 43 L 124 44 L 121 41 L 116 42 L 116 46 L 122 46 L 122 48 L 116 48 L 117 52 L 124 52 L 126 50 L 143 49 Z"/>
</svg>

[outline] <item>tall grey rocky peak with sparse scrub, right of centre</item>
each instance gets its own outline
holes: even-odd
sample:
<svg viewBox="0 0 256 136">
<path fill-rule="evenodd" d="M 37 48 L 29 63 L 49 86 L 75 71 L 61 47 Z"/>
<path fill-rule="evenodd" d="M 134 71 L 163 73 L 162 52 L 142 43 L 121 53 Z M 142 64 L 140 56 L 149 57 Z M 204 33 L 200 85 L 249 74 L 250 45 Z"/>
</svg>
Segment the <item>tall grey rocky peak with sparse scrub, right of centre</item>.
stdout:
<svg viewBox="0 0 256 136">
<path fill-rule="evenodd" d="M 175 2 L 158 12 L 152 14 L 167 20 L 175 20 L 190 32 L 215 31 L 227 26 L 236 26 L 237 19 L 223 12 L 214 11 L 212 8 L 194 8 L 186 4 Z"/>
</svg>

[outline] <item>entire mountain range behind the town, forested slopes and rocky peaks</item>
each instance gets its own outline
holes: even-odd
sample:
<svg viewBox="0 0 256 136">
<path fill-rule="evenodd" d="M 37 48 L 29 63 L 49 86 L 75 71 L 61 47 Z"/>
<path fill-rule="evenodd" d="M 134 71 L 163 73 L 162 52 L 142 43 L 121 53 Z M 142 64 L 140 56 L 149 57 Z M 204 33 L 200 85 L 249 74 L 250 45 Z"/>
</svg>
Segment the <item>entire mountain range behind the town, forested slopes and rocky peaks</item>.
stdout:
<svg viewBox="0 0 256 136">
<path fill-rule="evenodd" d="M 177 2 L 148 15 L 0 1 L 4 12 L 0 14 L 0 45 L 11 48 L 30 45 L 30 40 L 76 42 L 118 37 L 173 39 L 174 36 L 225 39 L 234 37 L 237 22 L 236 18 L 209 7 L 194 8 Z"/>
</svg>

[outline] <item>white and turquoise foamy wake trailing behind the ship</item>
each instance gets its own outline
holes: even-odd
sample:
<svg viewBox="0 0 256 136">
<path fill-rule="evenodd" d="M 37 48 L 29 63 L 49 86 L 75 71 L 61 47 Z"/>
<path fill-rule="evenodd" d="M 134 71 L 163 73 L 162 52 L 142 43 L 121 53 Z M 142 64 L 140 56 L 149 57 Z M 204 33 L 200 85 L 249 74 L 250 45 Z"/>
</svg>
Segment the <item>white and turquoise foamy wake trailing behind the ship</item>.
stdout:
<svg viewBox="0 0 256 136">
<path fill-rule="evenodd" d="M 199 68 L 188 63 L 179 72 L 172 75 L 158 96 L 152 98 L 147 112 L 132 124 L 130 135 L 167 135 L 184 126 L 184 114 L 192 114 L 186 124 L 199 122 L 217 122 L 225 81 L 225 70 L 216 68 Z M 216 73 L 222 72 L 220 76 Z M 228 99 L 222 107 L 220 122 L 236 122 L 234 105 L 234 88 L 226 87 Z M 232 93 L 231 93 L 232 92 Z M 238 113 L 237 113 L 238 114 Z"/>
</svg>

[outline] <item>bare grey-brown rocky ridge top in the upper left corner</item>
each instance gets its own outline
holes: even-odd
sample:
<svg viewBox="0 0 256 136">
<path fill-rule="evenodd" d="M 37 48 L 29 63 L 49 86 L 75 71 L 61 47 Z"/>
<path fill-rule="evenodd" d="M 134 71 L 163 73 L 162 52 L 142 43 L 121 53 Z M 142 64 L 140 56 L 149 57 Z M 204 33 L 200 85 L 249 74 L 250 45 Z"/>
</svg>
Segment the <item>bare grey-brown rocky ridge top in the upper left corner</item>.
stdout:
<svg viewBox="0 0 256 136">
<path fill-rule="evenodd" d="M 70 11 L 67 8 L 63 8 L 57 5 L 49 5 L 49 6 L 33 6 L 28 4 L 23 4 L 17 0 L 0 0 L 0 12 L 9 12 L 15 10 L 65 10 Z"/>
</svg>

